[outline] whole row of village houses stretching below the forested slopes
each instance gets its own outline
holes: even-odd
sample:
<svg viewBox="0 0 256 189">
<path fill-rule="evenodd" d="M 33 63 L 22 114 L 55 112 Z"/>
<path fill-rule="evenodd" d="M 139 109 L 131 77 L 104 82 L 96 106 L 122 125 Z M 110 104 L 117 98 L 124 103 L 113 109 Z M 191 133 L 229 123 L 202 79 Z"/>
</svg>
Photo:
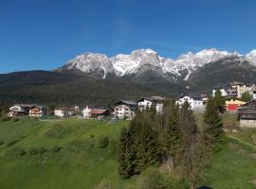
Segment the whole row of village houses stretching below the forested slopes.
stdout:
<svg viewBox="0 0 256 189">
<path fill-rule="evenodd" d="M 189 102 L 194 112 L 204 112 L 209 96 L 219 91 L 225 97 L 223 111 L 237 114 L 241 128 L 256 128 L 256 85 L 234 81 L 229 84 L 218 84 L 212 87 L 211 94 L 181 94 L 175 103 L 181 106 Z M 243 100 L 243 94 L 249 94 L 249 100 Z M 161 96 L 143 97 L 137 101 L 120 100 L 112 107 L 108 106 L 72 106 L 59 107 L 50 110 L 46 106 L 37 104 L 14 104 L 9 107 L 9 117 L 80 117 L 84 119 L 131 120 L 137 110 L 154 107 L 155 112 L 162 112 L 164 102 L 168 100 Z"/>
</svg>

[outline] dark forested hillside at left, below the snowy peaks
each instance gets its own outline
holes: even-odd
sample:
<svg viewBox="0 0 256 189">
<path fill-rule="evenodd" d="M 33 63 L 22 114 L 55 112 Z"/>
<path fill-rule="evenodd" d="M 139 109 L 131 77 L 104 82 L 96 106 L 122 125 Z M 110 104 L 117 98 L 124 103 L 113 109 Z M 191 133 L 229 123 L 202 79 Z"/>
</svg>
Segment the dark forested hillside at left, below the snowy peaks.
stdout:
<svg viewBox="0 0 256 189">
<path fill-rule="evenodd" d="M 137 100 L 142 96 L 177 94 L 175 89 L 154 89 L 125 80 L 60 74 L 46 71 L 0 75 L 0 102 L 41 103 L 46 105 L 112 105 L 120 99 Z"/>
</svg>

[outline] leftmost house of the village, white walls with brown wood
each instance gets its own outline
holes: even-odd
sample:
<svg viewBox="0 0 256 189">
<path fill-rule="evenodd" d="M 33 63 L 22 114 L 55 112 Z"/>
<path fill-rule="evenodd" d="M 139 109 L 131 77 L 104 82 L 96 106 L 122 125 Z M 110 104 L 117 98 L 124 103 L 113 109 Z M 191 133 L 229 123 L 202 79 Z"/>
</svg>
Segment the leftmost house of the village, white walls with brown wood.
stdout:
<svg viewBox="0 0 256 189">
<path fill-rule="evenodd" d="M 28 115 L 29 110 L 33 107 L 34 105 L 31 104 L 15 104 L 11 107 L 9 107 L 9 113 L 8 116 L 24 116 Z"/>
</svg>

